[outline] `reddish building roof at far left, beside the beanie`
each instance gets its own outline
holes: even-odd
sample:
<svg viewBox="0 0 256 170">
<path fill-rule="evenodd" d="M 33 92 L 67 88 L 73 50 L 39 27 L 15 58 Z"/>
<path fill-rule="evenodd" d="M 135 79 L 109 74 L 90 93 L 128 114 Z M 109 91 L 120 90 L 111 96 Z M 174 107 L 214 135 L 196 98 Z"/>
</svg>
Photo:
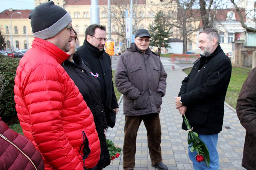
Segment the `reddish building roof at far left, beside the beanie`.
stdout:
<svg viewBox="0 0 256 170">
<path fill-rule="evenodd" d="M 13 14 L 12 18 L 28 18 L 30 11 L 32 10 L 4 10 L 0 12 L 0 18 L 11 18 L 15 12 L 21 12 L 21 14 Z"/>
</svg>

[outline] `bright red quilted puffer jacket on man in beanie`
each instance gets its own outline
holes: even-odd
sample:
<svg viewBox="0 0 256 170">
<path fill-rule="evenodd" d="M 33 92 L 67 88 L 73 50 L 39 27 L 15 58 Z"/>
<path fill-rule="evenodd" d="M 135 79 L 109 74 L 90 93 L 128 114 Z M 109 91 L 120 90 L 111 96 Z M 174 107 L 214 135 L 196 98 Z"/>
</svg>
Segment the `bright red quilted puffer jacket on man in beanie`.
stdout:
<svg viewBox="0 0 256 170">
<path fill-rule="evenodd" d="M 85 167 L 96 166 L 100 159 L 92 112 L 60 65 L 68 57 L 54 44 L 35 38 L 16 71 L 14 100 L 20 125 L 41 152 L 45 169 L 83 169 L 83 148 L 88 146 L 83 132 L 91 150 Z"/>
</svg>

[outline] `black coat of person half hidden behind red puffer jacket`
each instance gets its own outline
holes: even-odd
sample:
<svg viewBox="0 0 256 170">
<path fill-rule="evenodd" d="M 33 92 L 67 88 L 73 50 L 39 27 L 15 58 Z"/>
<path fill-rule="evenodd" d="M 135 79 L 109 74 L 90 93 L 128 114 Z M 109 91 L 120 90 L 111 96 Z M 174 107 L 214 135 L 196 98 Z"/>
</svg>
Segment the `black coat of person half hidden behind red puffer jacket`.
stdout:
<svg viewBox="0 0 256 170">
<path fill-rule="evenodd" d="M 77 53 L 73 55 L 73 60 L 75 63 L 66 60 L 62 63 L 62 67 L 74 81 L 80 93 L 83 95 L 84 101 L 92 111 L 96 130 L 100 139 L 101 149 L 100 160 L 96 165 L 95 170 L 102 169 L 110 164 L 110 157 L 104 134 L 104 128 L 107 127 L 107 121 L 100 97 L 100 83 L 97 78 L 91 75 L 91 70 L 88 68 L 87 63 L 82 61 L 82 58 L 79 57 Z"/>
</svg>

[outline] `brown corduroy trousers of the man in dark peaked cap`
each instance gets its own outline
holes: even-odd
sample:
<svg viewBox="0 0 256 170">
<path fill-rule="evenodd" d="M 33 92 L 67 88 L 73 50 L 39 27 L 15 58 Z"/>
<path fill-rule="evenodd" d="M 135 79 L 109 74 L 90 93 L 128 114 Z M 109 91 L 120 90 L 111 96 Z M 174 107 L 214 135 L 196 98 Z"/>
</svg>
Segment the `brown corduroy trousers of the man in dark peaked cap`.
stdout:
<svg viewBox="0 0 256 170">
<path fill-rule="evenodd" d="M 124 125 L 124 147 L 123 147 L 123 168 L 134 169 L 136 137 L 141 121 L 147 129 L 148 149 L 151 164 L 162 162 L 161 153 L 161 125 L 159 114 L 153 113 L 141 116 L 125 116 Z"/>
</svg>

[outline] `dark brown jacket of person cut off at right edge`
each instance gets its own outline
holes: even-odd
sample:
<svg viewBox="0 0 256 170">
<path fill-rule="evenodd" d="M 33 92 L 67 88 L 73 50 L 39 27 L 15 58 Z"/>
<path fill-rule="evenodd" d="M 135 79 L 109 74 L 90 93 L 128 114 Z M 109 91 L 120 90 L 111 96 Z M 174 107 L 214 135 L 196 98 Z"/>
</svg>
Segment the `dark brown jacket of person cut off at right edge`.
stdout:
<svg viewBox="0 0 256 170">
<path fill-rule="evenodd" d="M 245 80 L 236 103 L 236 113 L 246 129 L 242 166 L 256 169 L 256 68 Z"/>
</svg>

